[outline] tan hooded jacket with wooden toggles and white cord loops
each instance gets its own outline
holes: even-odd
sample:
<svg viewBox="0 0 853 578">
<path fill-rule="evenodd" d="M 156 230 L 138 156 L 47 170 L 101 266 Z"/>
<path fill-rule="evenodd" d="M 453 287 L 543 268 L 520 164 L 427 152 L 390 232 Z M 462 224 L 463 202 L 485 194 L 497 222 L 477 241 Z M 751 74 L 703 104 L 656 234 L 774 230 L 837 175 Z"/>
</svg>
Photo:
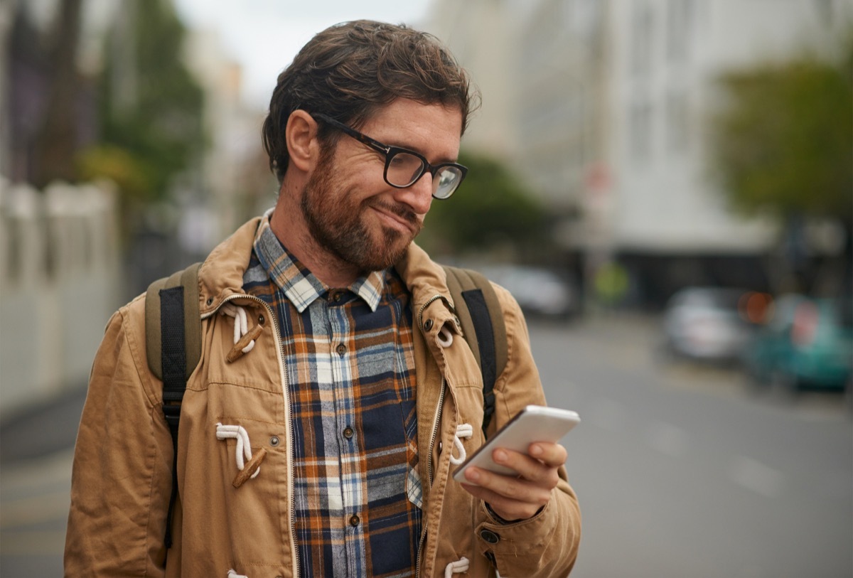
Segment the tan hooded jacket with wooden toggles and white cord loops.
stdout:
<svg viewBox="0 0 853 578">
<path fill-rule="evenodd" d="M 243 225 L 200 269 L 203 346 L 183 398 L 180 498 L 175 543 L 168 551 L 163 541 L 173 451 L 162 384 L 146 361 L 144 296 L 119 309 L 107 325 L 74 455 L 67 576 L 229 578 L 229 570 L 248 578 L 297 575 L 290 403 L 281 345 L 270 322 L 275 315 L 241 290 L 257 227 L 257 219 Z M 438 342 L 442 327 L 458 332 L 443 269 L 414 245 L 397 269 L 412 293 L 415 324 L 421 328 L 415 332 L 415 366 L 426 536 L 419 575 L 443 576 L 461 558 L 469 567 L 456 576 L 494 575 L 490 558 L 505 577 L 567 575 L 577 556 L 580 513 L 565 471 L 542 512 L 508 525 L 450 478 L 456 425 L 474 425 L 474 435 L 462 439 L 468 453 L 484 441 L 477 426 L 483 412 L 479 367 L 463 339 L 448 347 Z M 508 362 L 495 385 L 490 433 L 521 407 L 545 401 L 518 305 L 505 290 L 497 292 L 506 315 Z M 250 311 L 249 327 L 260 316 L 265 319 L 254 349 L 228 362 L 234 319 L 215 314 L 232 300 Z M 218 440 L 219 423 L 241 425 L 252 454 L 265 452 L 258 476 L 239 487 L 237 441 Z M 424 459 L 427 455 L 432 459 Z"/>
</svg>

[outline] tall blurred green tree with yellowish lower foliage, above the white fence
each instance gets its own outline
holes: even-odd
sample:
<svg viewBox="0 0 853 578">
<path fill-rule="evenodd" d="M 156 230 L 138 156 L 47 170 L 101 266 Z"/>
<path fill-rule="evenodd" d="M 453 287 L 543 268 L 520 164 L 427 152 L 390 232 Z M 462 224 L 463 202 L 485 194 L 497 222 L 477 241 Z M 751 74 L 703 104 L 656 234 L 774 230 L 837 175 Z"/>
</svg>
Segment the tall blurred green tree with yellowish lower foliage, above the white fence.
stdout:
<svg viewBox="0 0 853 578">
<path fill-rule="evenodd" d="M 171 0 L 132 0 L 108 40 L 101 139 L 79 167 L 117 182 L 125 211 L 165 199 L 204 147 L 203 93 L 183 65 L 184 36 Z"/>
</svg>

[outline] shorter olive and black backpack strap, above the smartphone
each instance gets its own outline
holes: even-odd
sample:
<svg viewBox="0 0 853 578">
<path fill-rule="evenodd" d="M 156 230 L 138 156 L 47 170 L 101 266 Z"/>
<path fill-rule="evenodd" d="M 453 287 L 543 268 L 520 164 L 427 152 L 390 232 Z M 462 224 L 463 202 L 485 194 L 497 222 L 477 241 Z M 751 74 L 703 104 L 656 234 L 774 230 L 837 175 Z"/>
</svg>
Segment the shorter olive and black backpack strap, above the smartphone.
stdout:
<svg viewBox="0 0 853 578">
<path fill-rule="evenodd" d="M 444 265 L 456 316 L 483 375 L 483 432 L 495 413 L 495 382 L 507 367 L 507 326 L 494 287 L 471 269 Z"/>
</svg>

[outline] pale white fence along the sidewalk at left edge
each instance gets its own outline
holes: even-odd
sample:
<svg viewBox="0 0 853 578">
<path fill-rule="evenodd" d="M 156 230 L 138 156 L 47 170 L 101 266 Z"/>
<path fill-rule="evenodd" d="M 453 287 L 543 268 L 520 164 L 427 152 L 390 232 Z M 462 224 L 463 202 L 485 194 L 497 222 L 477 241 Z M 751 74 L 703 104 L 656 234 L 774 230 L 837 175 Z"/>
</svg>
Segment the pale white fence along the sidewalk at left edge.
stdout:
<svg viewBox="0 0 853 578">
<path fill-rule="evenodd" d="M 0 181 L 0 417 L 83 386 L 119 303 L 115 194 Z"/>
</svg>

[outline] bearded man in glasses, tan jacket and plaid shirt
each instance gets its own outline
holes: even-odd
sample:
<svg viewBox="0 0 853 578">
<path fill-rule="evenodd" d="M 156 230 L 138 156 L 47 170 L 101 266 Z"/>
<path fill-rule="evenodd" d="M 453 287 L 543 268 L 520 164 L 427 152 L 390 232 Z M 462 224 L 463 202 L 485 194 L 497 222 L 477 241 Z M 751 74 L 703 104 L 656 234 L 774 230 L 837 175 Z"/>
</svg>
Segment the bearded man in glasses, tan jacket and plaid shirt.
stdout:
<svg viewBox="0 0 853 578">
<path fill-rule="evenodd" d="M 564 448 L 496 451 L 517 476 L 450 478 L 485 441 L 482 378 L 443 269 L 412 240 L 465 176 L 471 92 L 434 38 L 372 21 L 319 33 L 281 73 L 264 122 L 276 207 L 199 272 L 174 543 L 141 297 L 93 367 L 67 575 L 568 574 L 580 518 Z M 490 434 L 544 403 L 518 305 L 496 291 L 508 362 Z"/>
</svg>

